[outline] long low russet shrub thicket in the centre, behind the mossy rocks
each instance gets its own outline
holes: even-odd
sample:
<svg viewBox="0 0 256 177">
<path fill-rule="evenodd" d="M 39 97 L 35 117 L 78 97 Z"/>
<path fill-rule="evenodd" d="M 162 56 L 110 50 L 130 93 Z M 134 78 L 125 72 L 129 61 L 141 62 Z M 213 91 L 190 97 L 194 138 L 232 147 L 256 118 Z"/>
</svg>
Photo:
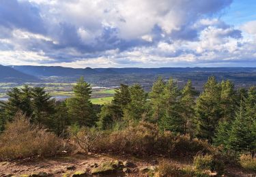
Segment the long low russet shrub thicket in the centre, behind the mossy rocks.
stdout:
<svg viewBox="0 0 256 177">
<path fill-rule="evenodd" d="M 88 129 L 81 129 L 79 133 L 73 134 L 78 146 L 87 149 L 86 138 Z M 94 134 L 95 133 L 95 134 Z M 210 152 L 212 146 L 203 140 L 190 138 L 189 135 L 174 135 L 170 131 L 160 132 L 158 127 L 152 123 L 141 121 L 118 130 L 107 130 L 100 133 L 94 131 L 90 135 L 94 140 L 90 146 L 92 152 L 114 152 L 116 154 L 126 153 L 132 155 L 190 155 L 193 157 L 198 152 Z M 100 136 L 97 135 L 100 133 Z M 84 140 L 85 139 L 85 140 Z M 86 150 L 87 151 L 87 150 Z"/>
</svg>

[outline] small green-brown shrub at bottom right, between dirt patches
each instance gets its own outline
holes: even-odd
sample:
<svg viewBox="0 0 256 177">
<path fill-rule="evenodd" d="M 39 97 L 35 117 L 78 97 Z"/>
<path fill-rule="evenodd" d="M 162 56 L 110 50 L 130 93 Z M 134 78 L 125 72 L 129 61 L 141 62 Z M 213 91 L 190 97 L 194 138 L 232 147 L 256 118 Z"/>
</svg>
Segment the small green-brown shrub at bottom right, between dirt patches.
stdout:
<svg viewBox="0 0 256 177">
<path fill-rule="evenodd" d="M 223 174 L 224 164 L 221 159 L 217 159 L 213 155 L 196 155 L 194 157 L 193 165 L 195 165 L 196 170 L 210 170 L 212 172 L 217 172 L 218 174 Z"/>
</svg>

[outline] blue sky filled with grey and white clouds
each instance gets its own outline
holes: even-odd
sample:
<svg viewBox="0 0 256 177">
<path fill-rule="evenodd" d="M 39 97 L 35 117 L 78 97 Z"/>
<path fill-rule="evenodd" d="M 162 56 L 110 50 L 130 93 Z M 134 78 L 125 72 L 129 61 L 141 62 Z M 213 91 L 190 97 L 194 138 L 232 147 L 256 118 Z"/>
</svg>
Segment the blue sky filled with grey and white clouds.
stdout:
<svg viewBox="0 0 256 177">
<path fill-rule="evenodd" d="M 255 0 L 0 0 L 0 65 L 256 67 Z"/>
</svg>

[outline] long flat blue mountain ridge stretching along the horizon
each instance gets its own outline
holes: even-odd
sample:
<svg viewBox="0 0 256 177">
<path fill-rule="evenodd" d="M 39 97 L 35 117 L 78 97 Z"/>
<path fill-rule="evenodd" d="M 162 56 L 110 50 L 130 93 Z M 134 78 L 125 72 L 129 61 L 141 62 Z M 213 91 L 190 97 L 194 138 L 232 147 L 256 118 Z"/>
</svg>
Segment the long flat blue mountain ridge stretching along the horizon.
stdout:
<svg viewBox="0 0 256 177">
<path fill-rule="evenodd" d="M 31 76 L 87 76 L 91 74 L 177 74 L 190 72 L 256 72 L 255 67 L 159 67 L 159 68 L 72 68 L 60 66 L 13 65 L 12 69 Z"/>
</svg>

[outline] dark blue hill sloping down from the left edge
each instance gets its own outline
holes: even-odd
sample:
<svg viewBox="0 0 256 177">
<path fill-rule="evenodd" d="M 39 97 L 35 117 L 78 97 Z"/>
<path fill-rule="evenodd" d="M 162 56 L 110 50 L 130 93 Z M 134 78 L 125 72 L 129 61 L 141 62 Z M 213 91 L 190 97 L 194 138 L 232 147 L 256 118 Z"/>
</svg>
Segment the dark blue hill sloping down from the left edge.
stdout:
<svg viewBox="0 0 256 177">
<path fill-rule="evenodd" d="M 12 67 L 0 65 L 0 82 L 35 82 L 38 80 L 35 76 L 17 71 Z"/>
</svg>

